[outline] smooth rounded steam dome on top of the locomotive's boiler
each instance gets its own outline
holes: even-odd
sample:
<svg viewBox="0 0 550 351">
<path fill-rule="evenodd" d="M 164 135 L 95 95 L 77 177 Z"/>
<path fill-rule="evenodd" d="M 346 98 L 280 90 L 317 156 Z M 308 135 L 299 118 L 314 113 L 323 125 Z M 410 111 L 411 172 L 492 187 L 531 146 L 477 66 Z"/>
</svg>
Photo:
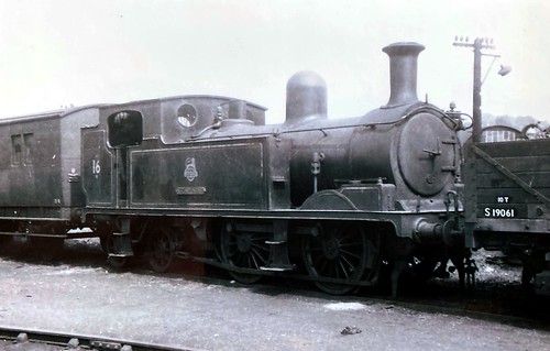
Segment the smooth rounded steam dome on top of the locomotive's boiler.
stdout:
<svg viewBox="0 0 550 351">
<path fill-rule="evenodd" d="M 286 124 L 327 118 L 327 84 L 317 73 L 295 74 L 286 85 Z"/>
</svg>

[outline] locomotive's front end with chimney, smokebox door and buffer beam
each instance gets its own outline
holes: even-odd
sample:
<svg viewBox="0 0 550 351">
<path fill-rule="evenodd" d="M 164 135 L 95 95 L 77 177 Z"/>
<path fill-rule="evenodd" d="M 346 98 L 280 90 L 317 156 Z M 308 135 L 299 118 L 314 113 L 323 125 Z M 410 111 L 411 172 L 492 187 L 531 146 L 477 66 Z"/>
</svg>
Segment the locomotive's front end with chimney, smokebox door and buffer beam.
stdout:
<svg viewBox="0 0 550 351">
<path fill-rule="evenodd" d="M 391 97 L 387 105 L 363 117 L 369 136 L 352 150 L 376 150 L 360 166 L 391 168 L 396 186 L 395 210 L 416 213 L 402 218 L 400 237 L 417 244 L 443 243 L 462 251 L 462 151 L 460 124 L 441 109 L 417 97 L 417 59 L 424 46 L 395 43 L 383 48 L 389 57 Z M 384 132 L 376 132 L 376 130 Z"/>
</svg>

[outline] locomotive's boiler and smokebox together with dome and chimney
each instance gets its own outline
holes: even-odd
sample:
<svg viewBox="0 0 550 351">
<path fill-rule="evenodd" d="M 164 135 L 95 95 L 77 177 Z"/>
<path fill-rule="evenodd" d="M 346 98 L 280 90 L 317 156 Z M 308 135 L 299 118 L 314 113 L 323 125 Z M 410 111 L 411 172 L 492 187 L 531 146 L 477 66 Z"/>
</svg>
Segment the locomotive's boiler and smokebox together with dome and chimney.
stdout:
<svg viewBox="0 0 550 351">
<path fill-rule="evenodd" d="M 391 97 L 385 106 L 359 118 L 328 120 L 322 81 L 311 74 L 289 80 L 287 123 L 299 131 L 293 138 L 293 204 L 310 206 L 315 193 L 346 184 L 393 185 L 389 207 L 371 210 L 446 211 L 449 194 L 461 193 L 461 149 L 458 124 L 441 109 L 417 98 L 417 58 L 424 46 L 396 43 L 384 47 L 391 63 Z M 315 78 L 315 79 L 314 79 Z M 315 84 L 311 84 L 315 81 Z M 322 91 L 320 94 L 319 91 Z M 308 108 L 297 108 L 296 96 L 308 96 Z M 316 99 L 310 98 L 311 96 Z M 288 114 L 288 113 L 287 113 Z M 297 117 L 298 116 L 298 117 Z M 317 165 L 311 171 L 310 164 Z M 315 183 L 315 185 L 312 185 Z M 454 195 L 452 195 L 454 197 Z M 454 204 L 454 201 L 453 201 Z M 358 208 L 363 208 L 358 205 Z M 458 210 L 453 209 L 453 210 Z M 406 231 L 403 235 L 413 235 Z"/>
</svg>

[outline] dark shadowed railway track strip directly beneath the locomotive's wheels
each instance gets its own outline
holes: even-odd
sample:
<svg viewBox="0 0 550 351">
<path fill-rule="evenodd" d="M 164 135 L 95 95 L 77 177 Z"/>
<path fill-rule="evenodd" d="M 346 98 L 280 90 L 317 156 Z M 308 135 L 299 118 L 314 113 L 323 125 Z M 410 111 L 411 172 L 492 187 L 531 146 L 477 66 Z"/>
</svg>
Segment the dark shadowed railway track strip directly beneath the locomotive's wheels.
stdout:
<svg viewBox="0 0 550 351">
<path fill-rule="evenodd" d="M 16 254 L 18 250 L 13 252 L 15 254 L 8 254 L 8 257 L 19 261 L 21 257 Z M 33 260 L 28 256 L 22 260 L 23 262 L 33 263 Z M 480 272 L 477 283 L 474 286 L 460 288 L 458 277 L 451 277 L 450 279 L 432 279 L 421 285 L 408 282 L 403 294 L 397 298 L 389 298 L 388 289 L 380 287 L 363 287 L 354 295 L 337 298 L 345 300 L 359 297 L 370 303 L 376 301 L 382 305 L 400 306 L 414 310 L 470 316 L 505 322 L 514 321 L 514 323 L 520 325 L 531 323 L 542 329 L 550 328 L 549 297 L 534 297 L 527 294 L 520 286 L 520 268 L 518 266 L 508 265 L 498 256 L 487 259 L 484 254 L 477 254 L 476 260 L 480 264 Z M 99 242 L 94 240 L 75 241 L 66 244 L 63 255 L 51 262 L 53 265 L 61 263 L 69 266 L 90 265 L 114 271 L 108 265 Z M 212 266 L 207 266 L 202 271 L 204 275 L 185 272 L 185 267 L 184 272 L 163 275 L 150 271 L 146 262 L 136 261 L 128 272 L 143 276 L 185 277 L 218 286 L 245 286 L 232 281 L 227 272 Z M 285 293 L 292 292 L 297 295 L 327 296 L 331 298 L 330 295 L 318 292 L 311 282 L 283 279 L 277 276 L 266 276 L 261 283 L 254 284 L 253 288 L 257 292 L 280 290 Z"/>
</svg>

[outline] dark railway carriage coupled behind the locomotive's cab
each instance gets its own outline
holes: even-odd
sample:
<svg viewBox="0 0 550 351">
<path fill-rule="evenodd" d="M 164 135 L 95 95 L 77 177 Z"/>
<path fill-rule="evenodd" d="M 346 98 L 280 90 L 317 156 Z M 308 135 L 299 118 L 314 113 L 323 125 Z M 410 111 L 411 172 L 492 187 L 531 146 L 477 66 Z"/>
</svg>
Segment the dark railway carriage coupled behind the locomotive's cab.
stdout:
<svg viewBox="0 0 550 351">
<path fill-rule="evenodd" d="M 0 231 L 3 234 L 44 241 L 68 238 L 69 229 L 81 226 L 86 197 L 78 175 L 80 128 L 97 121 L 98 106 L 0 121 L 0 142 L 4 145 L 0 151 Z"/>
</svg>

